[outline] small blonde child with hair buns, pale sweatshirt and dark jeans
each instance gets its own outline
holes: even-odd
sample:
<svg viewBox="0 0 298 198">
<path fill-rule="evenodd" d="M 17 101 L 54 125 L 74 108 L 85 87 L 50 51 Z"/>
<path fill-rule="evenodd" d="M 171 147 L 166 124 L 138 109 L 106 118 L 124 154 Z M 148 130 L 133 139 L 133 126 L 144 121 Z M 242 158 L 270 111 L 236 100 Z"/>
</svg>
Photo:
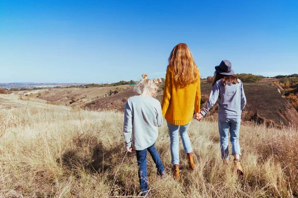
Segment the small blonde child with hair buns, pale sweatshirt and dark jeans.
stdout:
<svg viewBox="0 0 298 198">
<path fill-rule="evenodd" d="M 156 164 L 157 174 L 165 177 L 159 154 L 154 147 L 163 118 L 160 102 L 152 96 L 156 93 L 161 79 L 148 79 L 147 76 L 148 74 L 143 74 L 143 80 L 135 86 L 135 91 L 140 96 L 131 97 L 126 102 L 123 127 L 127 151 L 132 152 L 132 148 L 136 150 L 141 195 L 148 194 L 147 150 Z"/>
</svg>

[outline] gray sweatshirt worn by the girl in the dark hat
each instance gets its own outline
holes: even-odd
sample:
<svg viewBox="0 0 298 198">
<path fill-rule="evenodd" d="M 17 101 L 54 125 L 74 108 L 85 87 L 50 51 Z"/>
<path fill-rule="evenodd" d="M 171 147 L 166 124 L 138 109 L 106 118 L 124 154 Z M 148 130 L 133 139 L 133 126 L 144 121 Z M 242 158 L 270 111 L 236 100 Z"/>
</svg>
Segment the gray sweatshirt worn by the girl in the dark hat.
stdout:
<svg viewBox="0 0 298 198">
<path fill-rule="evenodd" d="M 219 99 L 219 118 L 241 118 L 241 112 L 246 105 L 243 84 L 238 79 L 238 84 L 222 86 L 222 79 L 213 86 L 207 104 L 201 113 L 205 116 L 210 108 Z"/>
</svg>

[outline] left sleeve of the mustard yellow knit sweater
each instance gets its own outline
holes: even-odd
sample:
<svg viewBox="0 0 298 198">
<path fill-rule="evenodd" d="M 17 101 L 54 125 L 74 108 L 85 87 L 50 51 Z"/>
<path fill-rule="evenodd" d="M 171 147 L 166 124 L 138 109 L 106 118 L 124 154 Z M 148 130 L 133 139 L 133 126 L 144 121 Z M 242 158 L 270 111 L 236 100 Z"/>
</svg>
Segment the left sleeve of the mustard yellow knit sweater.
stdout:
<svg viewBox="0 0 298 198">
<path fill-rule="evenodd" d="M 171 73 L 169 70 L 166 71 L 164 89 L 163 89 L 163 97 L 161 102 L 162 109 L 162 117 L 165 116 L 167 108 L 169 107 L 171 95 L 172 95 L 172 83 L 171 83 Z"/>
</svg>

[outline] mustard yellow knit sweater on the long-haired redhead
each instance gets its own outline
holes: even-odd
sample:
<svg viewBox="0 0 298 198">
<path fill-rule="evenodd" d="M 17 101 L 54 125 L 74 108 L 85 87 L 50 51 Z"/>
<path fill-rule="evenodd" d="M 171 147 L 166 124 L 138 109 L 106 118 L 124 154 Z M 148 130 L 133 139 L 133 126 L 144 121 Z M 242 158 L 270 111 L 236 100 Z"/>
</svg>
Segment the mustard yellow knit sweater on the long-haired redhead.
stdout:
<svg viewBox="0 0 298 198">
<path fill-rule="evenodd" d="M 168 66 L 161 102 L 162 116 L 171 124 L 186 125 L 192 120 L 194 111 L 200 112 L 200 103 L 200 77 L 182 88 L 175 82 L 173 70 Z"/>
</svg>

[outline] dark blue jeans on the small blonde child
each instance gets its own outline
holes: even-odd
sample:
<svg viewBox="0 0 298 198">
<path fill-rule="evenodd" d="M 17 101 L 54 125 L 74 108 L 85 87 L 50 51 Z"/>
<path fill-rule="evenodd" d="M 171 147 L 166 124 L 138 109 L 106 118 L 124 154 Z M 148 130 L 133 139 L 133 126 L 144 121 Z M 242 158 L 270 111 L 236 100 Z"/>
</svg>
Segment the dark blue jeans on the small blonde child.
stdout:
<svg viewBox="0 0 298 198">
<path fill-rule="evenodd" d="M 155 143 L 154 143 L 155 144 Z M 154 163 L 156 164 L 156 168 L 158 173 L 162 173 L 164 171 L 163 165 L 161 163 L 161 159 L 159 154 L 154 147 L 154 144 L 144 150 L 136 150 L 137 160 L 139 165 L 139 181 L 141 186 L 141 191 L 148 190 L 147 183 L 147 150 L 149 151 Z"/>
</svg>

